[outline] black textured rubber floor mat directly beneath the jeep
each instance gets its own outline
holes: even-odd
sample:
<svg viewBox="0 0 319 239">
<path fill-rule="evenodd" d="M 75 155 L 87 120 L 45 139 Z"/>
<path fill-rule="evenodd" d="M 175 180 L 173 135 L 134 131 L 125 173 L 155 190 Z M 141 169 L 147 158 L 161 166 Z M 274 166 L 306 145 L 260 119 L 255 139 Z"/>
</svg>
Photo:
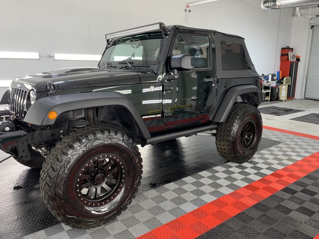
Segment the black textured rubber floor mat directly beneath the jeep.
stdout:
<svg viewBox="0 0 319 239">
<path fill-rule="evenodd" d="M 262 138 L 258 151 L 280 143 Z M 140 151 L 144 173 L 138 193 L 226 162 L 216 150 L 214 137 L 183 137 L 140 147 Z M 0 238 L 19 238 L 58 223 L 42 200 L 40 170 L 23 166 L 12 157 L 0 167 Z"/>
</svg>

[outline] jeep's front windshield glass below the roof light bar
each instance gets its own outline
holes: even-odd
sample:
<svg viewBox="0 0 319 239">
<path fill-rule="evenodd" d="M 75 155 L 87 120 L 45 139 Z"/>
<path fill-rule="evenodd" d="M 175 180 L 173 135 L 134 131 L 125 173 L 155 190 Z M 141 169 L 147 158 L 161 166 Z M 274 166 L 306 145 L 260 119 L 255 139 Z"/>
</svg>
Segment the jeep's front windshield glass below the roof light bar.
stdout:
<svg viewBox="0 0 319 239">
<path fill-rule="evenodd" d="M 162 33 L 143 33 L 110 40 L 100 61 L 100 66 L 105 65 L 103 62 L 109 62 L 111 66 L 123 66 L 125 61 L 130 62 L 134 67 L 156 65 L 164 41 Z"/>
</svg>

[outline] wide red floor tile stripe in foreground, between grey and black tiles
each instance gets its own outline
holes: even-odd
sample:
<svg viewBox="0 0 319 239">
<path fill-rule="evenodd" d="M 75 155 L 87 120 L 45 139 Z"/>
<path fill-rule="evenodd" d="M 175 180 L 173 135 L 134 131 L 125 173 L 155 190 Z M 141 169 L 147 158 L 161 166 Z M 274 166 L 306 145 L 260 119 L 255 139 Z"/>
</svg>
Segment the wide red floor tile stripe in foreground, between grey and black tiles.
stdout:
<svg viewBox="0 0 319 239">
<path fill-rule="evenodd" d="M 138 238 L 196 238 L 318 168 L 319 152 L 207 203 Z"/>
</svg>

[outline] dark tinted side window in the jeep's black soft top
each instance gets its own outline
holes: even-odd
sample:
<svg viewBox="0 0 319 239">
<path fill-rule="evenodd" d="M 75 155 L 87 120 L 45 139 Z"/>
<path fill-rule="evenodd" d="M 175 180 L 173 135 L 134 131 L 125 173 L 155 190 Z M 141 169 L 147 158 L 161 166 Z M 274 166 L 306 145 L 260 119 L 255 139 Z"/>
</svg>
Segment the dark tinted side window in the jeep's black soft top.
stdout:
<svg viewBox="0 0 319 239">
<path fill-rule="evenodd" d="M 244 47 L 241 44 L 222 41 L 221 64 L 223 70 L 249 70 L 245 61 Z"/>
</svg>

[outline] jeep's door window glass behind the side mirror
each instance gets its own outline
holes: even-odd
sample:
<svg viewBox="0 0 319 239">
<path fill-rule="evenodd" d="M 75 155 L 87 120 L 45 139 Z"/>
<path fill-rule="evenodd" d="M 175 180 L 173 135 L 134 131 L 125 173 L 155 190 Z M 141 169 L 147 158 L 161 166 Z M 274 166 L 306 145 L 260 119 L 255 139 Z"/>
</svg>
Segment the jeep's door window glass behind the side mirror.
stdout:
<svg viewBox="0 0 319 239">
<path fill-rule="evenodd" d="M 191 68 L 210 68 L 209 37 L 178 34 L 172 50 L 176 54 L 190 54 Z"/>
</svg>

